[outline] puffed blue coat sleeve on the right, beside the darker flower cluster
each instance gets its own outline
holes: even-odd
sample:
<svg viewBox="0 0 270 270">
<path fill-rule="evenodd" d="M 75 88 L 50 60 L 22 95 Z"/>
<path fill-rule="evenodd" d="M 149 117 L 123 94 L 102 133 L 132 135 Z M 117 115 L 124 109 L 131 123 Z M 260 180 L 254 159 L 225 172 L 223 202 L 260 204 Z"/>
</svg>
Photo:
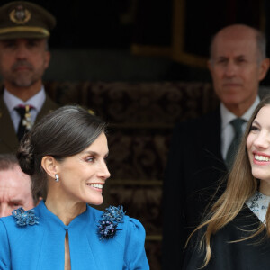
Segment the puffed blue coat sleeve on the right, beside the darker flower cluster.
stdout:
<svg viewBox="0 0 270 270">
<path fill-rule="evenodd" d="M 148 270 L 145 252 L 145 229 L 139 220 L 129 218 L 127 222 L 127 239 L 125 246 L 125 264 L 128 270 Z"/>
</svg>

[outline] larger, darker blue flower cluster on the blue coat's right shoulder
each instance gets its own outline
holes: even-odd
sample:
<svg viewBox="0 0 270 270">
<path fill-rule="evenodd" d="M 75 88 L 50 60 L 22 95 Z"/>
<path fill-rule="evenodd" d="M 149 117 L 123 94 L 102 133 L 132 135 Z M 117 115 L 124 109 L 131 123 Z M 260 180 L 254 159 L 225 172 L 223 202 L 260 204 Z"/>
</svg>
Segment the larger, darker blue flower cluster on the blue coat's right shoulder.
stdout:
<svg viewBox="0 0 270 270">
<path fill-rule="evenodd" d="M 100 239 L 110 239 L 113 238 L 117 232 L 118 223 L 123 223 L 122 219 L 125 212 L 122 206 L 109 206 L 106 211 L 103 212 L 102 220 L 98 221 L 98 235 Z"/>
</svg>

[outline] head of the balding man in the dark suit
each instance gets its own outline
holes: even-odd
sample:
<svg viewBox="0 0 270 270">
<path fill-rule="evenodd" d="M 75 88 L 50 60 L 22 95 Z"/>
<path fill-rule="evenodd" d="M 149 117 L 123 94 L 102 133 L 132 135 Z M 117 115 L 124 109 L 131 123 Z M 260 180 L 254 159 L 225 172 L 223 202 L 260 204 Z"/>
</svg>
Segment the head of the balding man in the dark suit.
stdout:
<svg viewBox="0 0 270 270">
<path fill-rule="evenodd" d="M 242 116 L 255 102 L 259 82 L 268 71 L 264 34 L 244 24 L 221 29 L 211 42 L 208 67 L 221 103 Z"/>
</svg>

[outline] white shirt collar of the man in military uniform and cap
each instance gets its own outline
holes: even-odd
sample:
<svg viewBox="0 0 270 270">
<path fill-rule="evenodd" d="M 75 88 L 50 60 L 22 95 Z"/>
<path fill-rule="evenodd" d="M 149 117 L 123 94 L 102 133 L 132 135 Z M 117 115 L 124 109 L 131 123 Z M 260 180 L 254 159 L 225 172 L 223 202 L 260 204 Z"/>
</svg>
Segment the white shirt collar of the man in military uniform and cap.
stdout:
<svg viewBox="0 0 270 270">
<path fill-rule="evenodd" d="M 34 122 L 43 106 L 43 103 L 45 102 L 46 94 L 44 86 L 42 85 L 39 93 L 33 95 L 28 101 L 23 102 L 23 100 L 4 89 L 3 99 L 14 123 L 14 130 L 17 133 L 21 118 L 14 108 L 18 105 L 31 105 L 33 107 L 33 109 L 31 109 L 31 122 Z"/>
</svg>

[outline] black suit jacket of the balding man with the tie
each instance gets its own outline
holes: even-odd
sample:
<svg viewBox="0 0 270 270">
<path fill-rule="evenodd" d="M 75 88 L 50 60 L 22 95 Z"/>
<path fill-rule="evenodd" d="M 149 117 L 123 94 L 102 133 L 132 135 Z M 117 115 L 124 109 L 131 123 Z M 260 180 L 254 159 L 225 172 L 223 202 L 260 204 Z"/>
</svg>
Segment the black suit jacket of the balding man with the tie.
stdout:
<svg viewBox="0 0 270 270">
<path fill-rule="evenodd" d="M 175 126 L 164 181 L 163 269 L 181 269 L 186 239 L 227 174 L 220 125 L 217 110 Z"/>
</svg>

